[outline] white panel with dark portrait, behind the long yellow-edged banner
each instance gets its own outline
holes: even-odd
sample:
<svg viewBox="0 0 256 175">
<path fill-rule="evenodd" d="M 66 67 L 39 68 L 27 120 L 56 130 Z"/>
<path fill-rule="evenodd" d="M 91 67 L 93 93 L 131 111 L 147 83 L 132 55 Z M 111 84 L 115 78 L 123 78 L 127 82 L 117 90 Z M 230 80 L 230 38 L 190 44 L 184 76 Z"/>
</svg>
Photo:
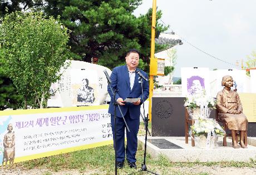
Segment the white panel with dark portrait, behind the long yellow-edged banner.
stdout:
<svg viewBox="0 0 256 175">
<path fill-rule="evenodd" d="M 71 61 L 67 69 L 61 69 L 61 79 L 51 84 L 52 96 L 48 107 L 97 106 L 104 104 L 107 93 L 109 68 L 82 61 Z M 107 99 L 110 101 L 110 99 Z"/>
</svg>

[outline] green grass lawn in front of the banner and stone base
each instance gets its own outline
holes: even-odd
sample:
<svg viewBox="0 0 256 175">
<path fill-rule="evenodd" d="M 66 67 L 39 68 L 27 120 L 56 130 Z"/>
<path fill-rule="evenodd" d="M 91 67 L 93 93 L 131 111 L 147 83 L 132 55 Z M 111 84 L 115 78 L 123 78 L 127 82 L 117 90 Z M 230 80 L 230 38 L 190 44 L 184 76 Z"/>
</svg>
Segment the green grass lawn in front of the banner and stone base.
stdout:
<svg viewBox="0 0 256 175">
<path fill-rule="evenodd" d="M 144 125 L 141 124 L 139 135 L 145 134 Z M 150 174 L 147 172 L 140 172 L 141 163 L 143 163 L 144 151 L 142 150 L 144 145 L 138 146 L 136 154 L 137 169 L 131 169 L 127 162 L 123 169 L 117 169 L 117 174 Z M 177 167 L 195 167 L 195 166 L 220 166 L 220 167 L 250 167 L 256 168 L 256 161 L 250 162 L 189 162 L 178 163 L 170 162 L 166 157 L 159 156 L 157 159 L 152 159 L 149 154 L 146 156 L 147 168 L 159 174 L 188 174 L 180 170 Z M 6 167 L 5 167 L 6 168 Z M 13 167 L 7 167 L 13 168 Z M 39 158 L 31 161 L 21 162 L 14 164 L 14 168 L 19 169 L 47 169 L 45 175 L 52 174 L 51 172 L 61 172 L 63 169 L 78 170 L 81 174 L 115 174 L 115 152 L 113 145 L 102 146 L 97 148 L 85 149 L 82 151 L 70 152 L 65 154 L 59 154 L 56 156 Z M 203 173 L 208 174 L 207 170 Z M 39 175 L 39 174 L 38 174 Z"/>
</svg>

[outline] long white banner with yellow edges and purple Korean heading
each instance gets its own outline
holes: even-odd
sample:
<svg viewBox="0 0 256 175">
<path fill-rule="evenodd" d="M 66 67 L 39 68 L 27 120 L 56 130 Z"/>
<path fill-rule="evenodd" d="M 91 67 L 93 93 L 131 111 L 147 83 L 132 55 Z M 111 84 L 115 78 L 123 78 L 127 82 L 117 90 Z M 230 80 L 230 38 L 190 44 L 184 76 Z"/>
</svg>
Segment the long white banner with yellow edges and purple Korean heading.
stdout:
<svg viewBox="0 0 256 175">
<path fill-rule="evenodd" d="M 112 143 L 107 108 L 104 105 L 1 112 L 1 163 L 11 147 L 14 162 L 21 162 Z M 8 128 L 10 124 L 12 129 Z"/>
</svg>

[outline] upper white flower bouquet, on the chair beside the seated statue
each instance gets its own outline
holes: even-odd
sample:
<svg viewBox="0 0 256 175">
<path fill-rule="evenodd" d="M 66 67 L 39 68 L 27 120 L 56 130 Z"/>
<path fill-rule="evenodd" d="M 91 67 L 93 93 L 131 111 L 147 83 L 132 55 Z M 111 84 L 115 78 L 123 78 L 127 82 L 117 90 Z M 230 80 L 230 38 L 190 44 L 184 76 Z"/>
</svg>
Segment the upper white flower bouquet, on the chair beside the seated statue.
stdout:
<svg viewBox="0 0 256 175">
<path fill-rule="evenodd" d="M 210 112 L 215 108 L 216 100 L 206 96 L 203 91 L 200 94 L 189 94 L 184 106 L 187 108 L 191 119 L 209 118 Z"/>
</svg>

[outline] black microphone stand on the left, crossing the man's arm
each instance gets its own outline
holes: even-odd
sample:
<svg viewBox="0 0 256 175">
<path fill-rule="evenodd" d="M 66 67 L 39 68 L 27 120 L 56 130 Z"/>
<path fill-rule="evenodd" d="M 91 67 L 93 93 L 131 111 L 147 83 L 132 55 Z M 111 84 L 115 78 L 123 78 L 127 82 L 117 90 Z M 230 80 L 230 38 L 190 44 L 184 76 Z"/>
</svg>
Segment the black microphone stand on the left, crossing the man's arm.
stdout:
<svg viewBox="0 0 256 175">
<path fill-rule="evenodd" d="M 125 126 L 126 126 L 126 129 L 128 132 L 130 132 L 130 129 L 125 121 L 125 117 L 124 117 L 124 114 L 122 114 L 122 111 L 121 111 L 121 108 L 119 106 L 119 104 L 117 103 L 116 101 L 116 93 L 118 92 L 118 89 L 115 89 L 115 91 L 113 91 L 112 87 L 110 86 L 111 82 L 110 82 L 110 78 L 107 76 L 107 74 L 105 73 L 105 76 L 107 78 L 107 83 L 109 84 L 109 87 L 111 89 L 111 92 L 114 96 L 114 99 L 115 99 L 115 102 L 114 102 L 114 134 L 115 134 L 115 139 L 114 139 L 114 149 L 115 149 L 115 175 L 117 175 L 117 164 L 116 164 L 116 107 L 118 106 L 119 107 L 119 111 L 121 113 L 121 116 L 122 118 L 124 119 L 124 122 L 125 122 Z"/>
</svg>

